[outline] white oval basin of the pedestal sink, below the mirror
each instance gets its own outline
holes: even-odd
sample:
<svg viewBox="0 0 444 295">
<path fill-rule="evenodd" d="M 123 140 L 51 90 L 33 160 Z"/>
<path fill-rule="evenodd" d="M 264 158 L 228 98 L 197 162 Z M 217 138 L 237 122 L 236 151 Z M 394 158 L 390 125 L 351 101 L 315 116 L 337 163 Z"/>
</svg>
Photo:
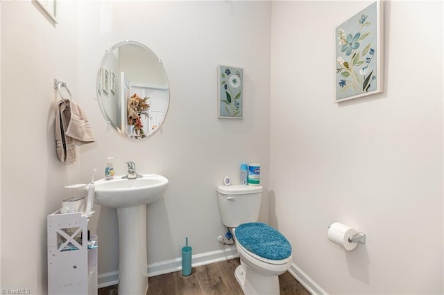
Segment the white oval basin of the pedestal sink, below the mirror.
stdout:
<svg viewBox="0 0 444 295">
<path fill-rule="evenodd" d="M 94 202 L 100 206 L 121 208 L 150 204 L 160 199 L 167 189 L 168 179 L 157 174 L 142 176 L 136 179 L 115 176 L 111 180 L 96 181 Z"/>
</svg>

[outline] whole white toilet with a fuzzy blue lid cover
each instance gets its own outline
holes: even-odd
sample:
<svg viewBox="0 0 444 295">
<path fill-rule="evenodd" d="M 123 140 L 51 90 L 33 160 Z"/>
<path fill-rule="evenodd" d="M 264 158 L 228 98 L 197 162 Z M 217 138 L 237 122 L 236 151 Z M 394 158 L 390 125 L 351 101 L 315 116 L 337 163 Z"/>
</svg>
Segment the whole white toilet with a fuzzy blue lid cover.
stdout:
<svg viewBox="0 0 444 295">
<path fill-rule="evenodd" d="M 223 224 L 234 234 L 241 265 L 234 272 L 245 294 L 280 294 L 279 278 L 291 266 L 289 241 L 271 226 L 257 222 L 262 186 L 218 186 Z"/>
</svg>

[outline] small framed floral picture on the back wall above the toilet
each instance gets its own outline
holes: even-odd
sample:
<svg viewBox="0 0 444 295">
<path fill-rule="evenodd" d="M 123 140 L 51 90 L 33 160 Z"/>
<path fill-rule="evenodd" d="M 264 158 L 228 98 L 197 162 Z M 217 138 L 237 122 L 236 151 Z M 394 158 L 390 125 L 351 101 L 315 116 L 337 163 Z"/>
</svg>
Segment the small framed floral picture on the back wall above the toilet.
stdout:
<svg viewBox="0 0 444 295">
<path fill-rule="evenodd" d="M 234 66 L 217 66 L 218 96 L 217 113 L 219 118 L 243 118 L 244 109 L 244 69 Z"/>
</svg>

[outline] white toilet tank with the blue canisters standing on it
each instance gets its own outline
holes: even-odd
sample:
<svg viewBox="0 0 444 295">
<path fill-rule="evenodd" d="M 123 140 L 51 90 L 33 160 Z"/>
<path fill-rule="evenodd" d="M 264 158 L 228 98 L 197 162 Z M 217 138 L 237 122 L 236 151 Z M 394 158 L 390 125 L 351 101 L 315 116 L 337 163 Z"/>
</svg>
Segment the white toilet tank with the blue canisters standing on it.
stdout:
<svg viewBox="0 0 444 295">
<path fill-rule="evenodd" d="M 262 190 L 262 186 L 218 186 L 217 200 L 222 223 L 237 227 L 246 222 L 257 222 Z"/>
</svg>

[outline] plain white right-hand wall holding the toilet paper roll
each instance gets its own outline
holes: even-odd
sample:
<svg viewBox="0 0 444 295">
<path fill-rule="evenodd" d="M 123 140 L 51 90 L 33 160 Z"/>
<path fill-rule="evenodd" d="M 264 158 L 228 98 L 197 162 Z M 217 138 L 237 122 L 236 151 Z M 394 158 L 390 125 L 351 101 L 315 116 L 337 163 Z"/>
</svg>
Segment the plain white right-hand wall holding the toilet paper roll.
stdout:
<svg viewBox="0 0 444 295">
<path fill-rule="evenodd" d="M 443 2 L 386 1 L 384 93 L 338 105 L 334 28 L 370 3 L 272 4 L 270 221 L 329 294 L 443 294 Z"/>
</svg>

